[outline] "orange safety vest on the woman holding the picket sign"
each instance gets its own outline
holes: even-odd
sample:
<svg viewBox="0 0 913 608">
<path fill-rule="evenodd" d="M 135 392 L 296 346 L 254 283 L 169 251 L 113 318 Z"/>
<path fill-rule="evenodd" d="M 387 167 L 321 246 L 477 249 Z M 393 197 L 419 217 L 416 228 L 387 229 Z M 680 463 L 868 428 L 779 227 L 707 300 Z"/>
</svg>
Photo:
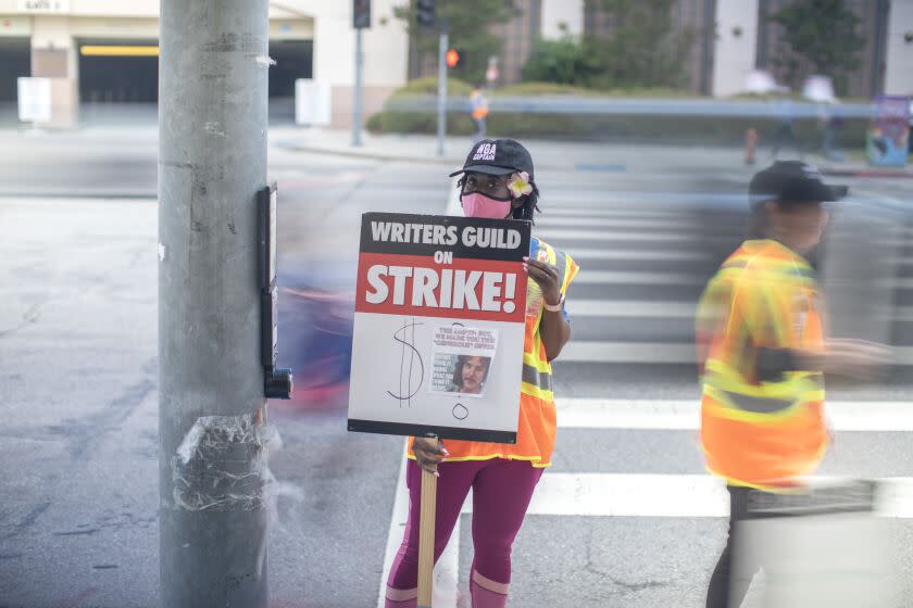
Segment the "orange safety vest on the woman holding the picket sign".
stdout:
<svg viewBox="0 0 913 608">
<path fill-rule="evenodd" d="M 561 293 L 577 275 L 579 267 L 570 255 L 533 238 L 529 256 L 558 267 Z M 528 460 L 534 467 L 551 466 L 554 451 L 555 407 L 552 392 L 552 369 L 546 357 L 546 345 L 539 333 L 542 320 L 542 292 L 539 284 L 527 279 L 526 332 L 523 341 L 523 378 L 520 387 L 520 418 L 516 443 L 486 443 L 479 441 L 445 440 L 450 456 L 445 461 L 489 460 L 510 458 Z M 409 439 L 408 456 L 415 459 Z"/>
</svg>

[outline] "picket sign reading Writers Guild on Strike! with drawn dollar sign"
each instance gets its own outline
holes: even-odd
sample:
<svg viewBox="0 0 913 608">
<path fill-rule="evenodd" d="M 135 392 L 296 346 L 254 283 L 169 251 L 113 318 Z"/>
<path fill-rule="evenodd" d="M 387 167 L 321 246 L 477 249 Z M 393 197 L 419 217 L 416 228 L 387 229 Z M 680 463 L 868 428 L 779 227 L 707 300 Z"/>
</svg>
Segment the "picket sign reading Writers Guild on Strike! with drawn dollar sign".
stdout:
<svg viewBox="0 0 913 608">
<path fill-rule="evenodd" d="M 530 224 L 362 216 L 350 431 L 514 443 Z"/>
</svg>

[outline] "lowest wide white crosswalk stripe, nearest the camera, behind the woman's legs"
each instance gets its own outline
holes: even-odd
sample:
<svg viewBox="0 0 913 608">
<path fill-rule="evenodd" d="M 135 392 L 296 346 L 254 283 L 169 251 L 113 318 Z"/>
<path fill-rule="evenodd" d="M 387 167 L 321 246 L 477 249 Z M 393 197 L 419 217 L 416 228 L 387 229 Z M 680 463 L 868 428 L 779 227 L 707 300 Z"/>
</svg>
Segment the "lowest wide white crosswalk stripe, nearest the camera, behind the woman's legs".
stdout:
<svg viewBox="0 0 913 608">
<path fill-rule="evenodd" d="M 812 484 L 840 478 L 812 477 Z M 913 518 L 913 478 L 879 480 L 876 514 Z M 463 505 L 472 512 L 472 501 Z M 564 517 L 727 517 L 725 483 L 710 474 L 562 473 L 546 471 L 527 515 Z"/>
</svg>

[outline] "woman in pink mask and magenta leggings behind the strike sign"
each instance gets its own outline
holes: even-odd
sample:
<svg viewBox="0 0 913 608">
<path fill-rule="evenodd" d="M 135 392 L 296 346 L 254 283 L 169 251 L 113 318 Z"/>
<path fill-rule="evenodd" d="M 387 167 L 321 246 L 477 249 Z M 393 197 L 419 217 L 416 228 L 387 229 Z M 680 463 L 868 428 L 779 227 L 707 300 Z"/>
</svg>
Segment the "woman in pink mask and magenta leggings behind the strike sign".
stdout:
<svg viewBox="0 0 913 608">
<path fill-rule="evenodd" d="M 533 219 L 539 191 L 533 157 L 512 139 L 484 139 L 473 145 L 458 182 L 467 217 Z M 409 521 L 387 580 L 386 607 L 417 605 L 418 527 L 422 470 L 437 480 L 435 561 L 440 557 L 463 502 L 473 490 L 473 545 L 470 573 L 473 608 L 501 608 L 508 601 L 511 547 L 533 491 L 554 448 L 555 407 L 551 365 L 571 338 L 564 296 L 577 274 L 571 257 L 536 239 L 524 269 L 527 281 L 520 419 L 515 444 L 413 438 L 407 484 Z"/>
</svg>

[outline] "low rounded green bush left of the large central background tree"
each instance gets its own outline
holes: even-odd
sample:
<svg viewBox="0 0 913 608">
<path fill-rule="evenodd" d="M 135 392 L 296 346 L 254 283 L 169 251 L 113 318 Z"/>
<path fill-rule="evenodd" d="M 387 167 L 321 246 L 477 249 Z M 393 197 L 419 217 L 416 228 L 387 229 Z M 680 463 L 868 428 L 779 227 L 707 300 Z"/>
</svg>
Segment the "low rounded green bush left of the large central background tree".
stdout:
<svg viewBox="0 0 913 608">
<path fill-rule="evenodd" d="M 584 45 L 571 36 L 560 40 L 538 39 L 521 77 L 526 81 L 587 87 L 601 66 Z"/>
</svg>

